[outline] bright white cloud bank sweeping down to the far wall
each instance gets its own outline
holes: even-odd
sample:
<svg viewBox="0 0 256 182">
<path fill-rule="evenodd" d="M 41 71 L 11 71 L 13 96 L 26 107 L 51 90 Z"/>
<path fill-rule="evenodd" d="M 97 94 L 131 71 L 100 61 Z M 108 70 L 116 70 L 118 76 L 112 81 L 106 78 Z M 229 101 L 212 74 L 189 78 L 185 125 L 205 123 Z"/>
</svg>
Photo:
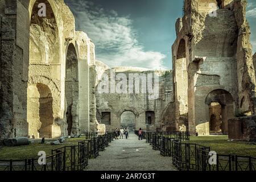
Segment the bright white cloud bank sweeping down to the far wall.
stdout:
<svg viewBox="0 0 256 182">
<path fill-rule="evenodd" d="M 114 10 L 106 11 L 83 0 L 67 3 L 76 15 L 77 28 L 85 31 L 96 45 L 96 59 L 110 67 L 164 68 L 166 55 L 144 51 L 129 16 L 118 16 Z"/>
</svg>

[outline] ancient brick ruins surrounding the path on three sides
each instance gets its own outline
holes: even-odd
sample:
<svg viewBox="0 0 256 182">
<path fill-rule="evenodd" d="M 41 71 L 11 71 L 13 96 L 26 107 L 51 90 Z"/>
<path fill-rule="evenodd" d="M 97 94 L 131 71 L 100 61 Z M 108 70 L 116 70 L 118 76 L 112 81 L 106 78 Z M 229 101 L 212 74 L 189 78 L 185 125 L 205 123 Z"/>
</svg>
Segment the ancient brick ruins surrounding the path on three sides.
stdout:
<svg viewBox="0 0 256 182">
<path fill-rule="evenodd" d="M 48 10 L 43 18 L 42 2 Z M 94 44 L 75 30 L 63 0 L 1 0 L 0 140 L 77 135 L 104 128 L 99 123 L 113 131 L 125 121 L 147 131 L 232 132 L 231 139 L 250 140 L 241 132 L 255 134 L 256 111 L 256 54 L 246 5 L 186 0 L 184 16 L 174 25 L 173 69 L 151 71 L 97 61 Z M 98 92 L 104 76 L 118 84 L 118 74 L 158 76 L 158 96 Z"/>
</svg>

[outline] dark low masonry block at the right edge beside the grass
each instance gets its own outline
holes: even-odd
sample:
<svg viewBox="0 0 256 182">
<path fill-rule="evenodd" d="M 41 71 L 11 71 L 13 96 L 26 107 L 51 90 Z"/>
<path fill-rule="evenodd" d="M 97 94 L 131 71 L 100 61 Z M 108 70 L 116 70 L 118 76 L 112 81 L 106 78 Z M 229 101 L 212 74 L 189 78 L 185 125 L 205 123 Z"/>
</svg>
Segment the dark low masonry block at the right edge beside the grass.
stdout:
<svg viewBox="0 0 256 182">
<path fill-rule="evenodd" d="M 229 139 L 256 142 L 256 116 L 229 119 Z"/>
</svg>

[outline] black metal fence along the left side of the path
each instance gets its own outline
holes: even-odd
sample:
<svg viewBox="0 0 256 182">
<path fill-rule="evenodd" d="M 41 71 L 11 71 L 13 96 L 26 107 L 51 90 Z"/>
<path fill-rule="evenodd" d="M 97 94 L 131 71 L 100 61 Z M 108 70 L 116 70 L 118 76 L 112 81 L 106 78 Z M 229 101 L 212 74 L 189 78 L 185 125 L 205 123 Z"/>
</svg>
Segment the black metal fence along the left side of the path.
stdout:
<svg viewBox="0 0 256 182">
<path fill-rule="evenodd" d="M 99 151 L 113 141 L 113 133 L 92 137 L 76 146 L 65 146 L 52 150 L 46 157 L 46 164 L 40 165 L 38 159 L 0 160 L 0 171 L 81 171 L 88 166 L 89 158 L 97 158 Z"/>
</svg>

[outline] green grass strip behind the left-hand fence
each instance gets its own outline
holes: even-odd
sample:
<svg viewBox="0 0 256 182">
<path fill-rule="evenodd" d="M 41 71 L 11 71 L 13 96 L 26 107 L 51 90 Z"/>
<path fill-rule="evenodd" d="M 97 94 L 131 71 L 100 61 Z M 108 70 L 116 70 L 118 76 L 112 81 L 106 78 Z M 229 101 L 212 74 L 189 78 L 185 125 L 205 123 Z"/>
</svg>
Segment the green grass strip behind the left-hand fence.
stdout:
<svg viewBox="0 0 256 182">
<path fill-rule="evenodd" d="M 45 151 L 46 155 L 52 154 L 52 149 L 60 148 L 64 146 L 75 146 L 78 142 L 84 140 L 85 137 L 81 138 L 69 138 L 66 139 L 64 143 L 57 146 L 52 146 L 51 144 L 40 144 L 32 143 L 27 146 L 17 146 L 17 147 L 2 147 L 0 148 L 0 160 L 19 160 L 19 159 L 36 159 L 38 158 L 39 151 Z M 46 141 L 47 143 L 48 141 Z"/>
</svg>

